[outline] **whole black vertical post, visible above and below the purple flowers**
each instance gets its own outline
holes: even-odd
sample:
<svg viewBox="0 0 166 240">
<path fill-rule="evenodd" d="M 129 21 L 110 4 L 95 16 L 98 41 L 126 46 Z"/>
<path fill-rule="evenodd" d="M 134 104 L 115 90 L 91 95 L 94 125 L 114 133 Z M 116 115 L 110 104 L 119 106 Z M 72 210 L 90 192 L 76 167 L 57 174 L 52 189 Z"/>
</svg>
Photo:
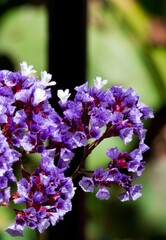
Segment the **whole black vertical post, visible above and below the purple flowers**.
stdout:
<svg viewBox="0 0 166 240">
<path fill-rule="evenodd" d="M 69 88 L 73 96 L 74 87 L 86 80 L 86 0 L 48 0 L 48 11 L 49 72 L 57 82 L 52 88 L 51 105 L 58 111 L 57 89 Z M 82 153 L 82 149 L 75 153 L 70 173 L 74 172 Z M 85 197 L 78 188 L 72 212 L 50 227 L 48 239 L 84 240 L 84 218 Z"/>
</svg>

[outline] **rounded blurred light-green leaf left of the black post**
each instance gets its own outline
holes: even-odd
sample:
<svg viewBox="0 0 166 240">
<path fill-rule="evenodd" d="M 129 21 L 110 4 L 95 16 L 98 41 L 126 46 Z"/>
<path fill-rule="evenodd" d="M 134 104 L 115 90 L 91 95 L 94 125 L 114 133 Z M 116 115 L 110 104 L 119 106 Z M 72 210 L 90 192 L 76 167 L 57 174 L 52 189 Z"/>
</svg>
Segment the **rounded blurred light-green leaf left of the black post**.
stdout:
<svg viewBox="0 0 166 240">
<path fill-rule="evenodd" d="M 24 5 L 6 11 L 1 19 L 0 56 L 7 56 L 15 70 L 27 61 L 37 71 L 47 69 L 47 11 Z"/>
</svg>

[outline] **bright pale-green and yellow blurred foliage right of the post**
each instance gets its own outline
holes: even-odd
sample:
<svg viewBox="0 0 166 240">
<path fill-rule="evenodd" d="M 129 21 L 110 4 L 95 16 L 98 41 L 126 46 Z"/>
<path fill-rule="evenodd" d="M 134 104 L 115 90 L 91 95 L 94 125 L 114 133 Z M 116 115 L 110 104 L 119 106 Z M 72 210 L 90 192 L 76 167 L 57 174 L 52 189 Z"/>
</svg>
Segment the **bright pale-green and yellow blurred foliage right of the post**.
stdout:
<svg viewBox="0 0 166 240">
<path fill-rule="evenodd" d="M 88 80 L 96 75 L 109 80 L 109 87 L 132 87 L 141 101 L 157 111 L 166 102 L 166 51 L 149 38 L 150 16 L 131 0 L 89 2 Z M 107 86 L 108 87 L 108 86 Z M 106 149 L 131 150 L 118 138 L 105 140 L 90 156 L 88 167 L 104 159 Z"/>
</svg>

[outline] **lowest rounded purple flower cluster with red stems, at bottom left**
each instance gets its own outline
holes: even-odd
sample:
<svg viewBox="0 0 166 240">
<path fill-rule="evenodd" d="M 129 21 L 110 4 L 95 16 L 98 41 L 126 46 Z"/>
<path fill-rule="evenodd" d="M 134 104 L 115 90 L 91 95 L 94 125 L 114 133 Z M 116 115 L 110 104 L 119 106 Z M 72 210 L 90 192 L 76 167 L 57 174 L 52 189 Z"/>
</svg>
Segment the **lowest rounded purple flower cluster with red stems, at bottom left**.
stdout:
<svg viewBox="0 0 166 240">
<path fill-rule="evenodd" d="M 50 223 L 55 226 L 72 208 L 75 192 L 72 180 L 54 166 L 52 158 L 42 158 L 40 168 L 25 176 L 17 182 L 18 190 L 10 197 L 16 204 L 26 205 L 23 211 L 16 211 L 15 223 L 6 229 L 12 236 L 23 236 L 25 226 L 43 233 Z"/>
</svg>

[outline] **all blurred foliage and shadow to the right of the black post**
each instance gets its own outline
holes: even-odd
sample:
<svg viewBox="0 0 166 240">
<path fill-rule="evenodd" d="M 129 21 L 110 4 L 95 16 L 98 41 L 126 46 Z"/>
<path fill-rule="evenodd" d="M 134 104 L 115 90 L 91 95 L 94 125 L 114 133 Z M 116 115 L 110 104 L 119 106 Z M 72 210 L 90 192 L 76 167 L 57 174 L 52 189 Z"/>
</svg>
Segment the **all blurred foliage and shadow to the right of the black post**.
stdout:
<svg viewBox="0 0 166 240">
<path fill-rule="evenodd" d="M 164 2 L 91 0 L 88 14 L 90 84 L 96 76 L 102 76 L 109 80 L 109 87 L 132 87 L 156 114 L 166 104 Z M 162 7 L 153 6 L 152 11 L 151 3 L 161 3 Z M 162 14 L 158 16 L 159 13 Z M 149 122 L 146 127 L 149 128 Z M 155 125 L 148 131 L 154 128 Z M 106 166 L 107 148 L 118 146 L 121 151 L 131 151 L 136 143 L 125 146 L 118 138 L 105 140 L 89 157 L 87 168 L 92 170 L 101 162 Z M 120 193 L 118 187 L 112 189 L 111 199 L 102 203 L 93 194 L 88 195 L 88 240 L 166 238 L 166 168 L 158 164 L 157 158 L 145 160 L 146 170 L 135 182 L 143 184 L 143 196 L 136 202 L 121 203 L 116 197 Z"/>
</svg>

